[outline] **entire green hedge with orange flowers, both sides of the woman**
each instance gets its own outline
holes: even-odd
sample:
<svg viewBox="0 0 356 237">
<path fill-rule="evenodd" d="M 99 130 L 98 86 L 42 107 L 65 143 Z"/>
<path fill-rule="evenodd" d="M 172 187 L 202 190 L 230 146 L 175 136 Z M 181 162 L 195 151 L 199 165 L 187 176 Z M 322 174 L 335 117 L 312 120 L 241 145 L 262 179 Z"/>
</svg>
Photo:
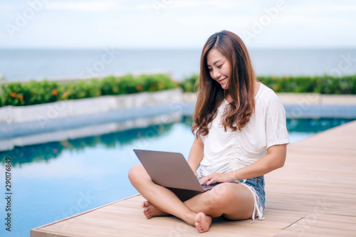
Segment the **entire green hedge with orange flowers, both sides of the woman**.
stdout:
<svg viewBox="0 0 356 237">
<path fill-rule="evenodd" d="M 195 92 L 198 75 L 192 75 L 181 83 L 171 80 L 168 75 L 123 75 L 109 76 L 102 80 L 78 80 L 66 84 L 55 81 L 34 81 L 28 83 L 7 83 L 1 85 L 0 107 L 6 105 L 36 105 L 58 100 L 93 98 L 100 95 L 122 95 L 143 91 L 167 90 L 182 87 L 185 92 Z M 356 94 L 356 75 L 334 77 L 258 76 L 261 83 L 278 93 L 321 93 Z"/>
</svg>

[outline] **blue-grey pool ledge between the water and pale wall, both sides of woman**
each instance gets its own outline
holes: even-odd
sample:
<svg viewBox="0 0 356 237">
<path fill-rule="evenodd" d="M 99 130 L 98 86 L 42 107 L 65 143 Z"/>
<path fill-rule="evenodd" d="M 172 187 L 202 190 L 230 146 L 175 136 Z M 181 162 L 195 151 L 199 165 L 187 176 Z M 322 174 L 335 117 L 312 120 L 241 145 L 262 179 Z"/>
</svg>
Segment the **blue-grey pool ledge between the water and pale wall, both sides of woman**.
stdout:
<svg viewBox="0 0 356 237">
<path fill-rule="evenodd" d="M 288 118 L 340 118 L 342 120 L 356 118 L 356 106 L 323 106 L 311 105 L 308 110 L 305 107 L 285 105 Z M 350 109 L 350 107 L 352 107 Z M 175 110 L 173 110 L 173 108 Z M 33 144 L 58 142 L 67 139 L 98 136 L 112 132 L 120 132 L 148 126 L 167 125 L 172 122 L 180 122 L 183 116 L 191 116 L 194 111 L 194 103 L 165 104 L 155 107 L 141 107 L 131 110 L 106 112 L 104 114 L 70 117 L 48 124 L 46 130 L 42 130 L 36 122 L 26 122 L 2 127 L 0 135 L 0 151 L 14 149 Z M 320 116 L 320 115 L 330 115 Z M 348 113 L 349 116 L 345 116 Z M 338 116 L 343 115 L 343 116 Z M 347 118 L 350 117 L 350 118 Z"/>
</svg>

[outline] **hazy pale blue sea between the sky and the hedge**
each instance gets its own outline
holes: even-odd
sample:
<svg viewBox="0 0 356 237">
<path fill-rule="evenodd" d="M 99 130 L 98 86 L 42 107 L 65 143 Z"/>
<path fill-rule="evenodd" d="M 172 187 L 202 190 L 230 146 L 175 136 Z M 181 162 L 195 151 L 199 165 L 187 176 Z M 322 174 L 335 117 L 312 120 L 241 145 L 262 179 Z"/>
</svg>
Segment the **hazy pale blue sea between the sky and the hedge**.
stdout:
<svg viewBox="0 0 356 237">
<path fill-rule="evenodd" d="M 355 48 L 249 49 L 256 75 L 356 74 Z M 6 81 L 91 78 L 127 73 L 199 73 L 201 49 L 0 49 Z"/>
</svg>

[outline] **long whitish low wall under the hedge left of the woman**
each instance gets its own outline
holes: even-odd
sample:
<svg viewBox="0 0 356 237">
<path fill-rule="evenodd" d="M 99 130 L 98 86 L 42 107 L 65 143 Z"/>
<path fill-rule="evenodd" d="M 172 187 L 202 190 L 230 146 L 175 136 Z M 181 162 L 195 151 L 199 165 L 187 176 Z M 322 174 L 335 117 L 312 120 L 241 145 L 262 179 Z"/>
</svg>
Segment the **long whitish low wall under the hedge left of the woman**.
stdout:
<svg viewBox="0 0 356 237">
<path fill-rule="evenodd" d="M 37 121 L 46 123 L 66 117 L 93 115 L 115 110 L 159 105 L 168 102 L 181 102 L 182 88 L 142 92 L 127 95 L 103 95 L 97 98 L 61 100 L 27 106 L 0 107 L 0 125 Z"/>
</svg>

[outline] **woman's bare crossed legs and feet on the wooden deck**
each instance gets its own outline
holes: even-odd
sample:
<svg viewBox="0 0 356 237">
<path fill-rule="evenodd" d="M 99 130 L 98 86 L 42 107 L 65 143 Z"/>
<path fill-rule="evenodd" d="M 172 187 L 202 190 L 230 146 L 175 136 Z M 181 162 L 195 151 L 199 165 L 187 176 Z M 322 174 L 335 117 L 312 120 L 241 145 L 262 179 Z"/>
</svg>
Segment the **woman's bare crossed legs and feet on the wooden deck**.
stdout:
<svg viewBox="0 0 356 237">
<path fill-rule="evenodd" d="M 147 199 L 142 203 L 147 218 L 172 214 L 196 226 L 199 233 L 209 230 L 211 217 L 223 215 L 241 220 L 251 218 L 253 213 L 253 195 L 244 185 L 219 184 L 182 202 L 172 191 L 155 184 L 142 164 L 130 169 L 129 178 L 135 189 Z"/>
</svg>

